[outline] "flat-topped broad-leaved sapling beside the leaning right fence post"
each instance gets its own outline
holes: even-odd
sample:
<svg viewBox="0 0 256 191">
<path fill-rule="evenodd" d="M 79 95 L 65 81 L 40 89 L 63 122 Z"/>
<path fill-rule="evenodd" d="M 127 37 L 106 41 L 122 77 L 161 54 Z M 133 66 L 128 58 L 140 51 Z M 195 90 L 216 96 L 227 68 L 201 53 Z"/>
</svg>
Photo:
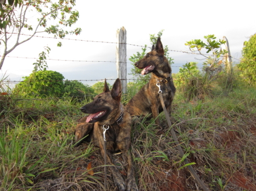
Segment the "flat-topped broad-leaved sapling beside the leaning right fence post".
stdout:
<svg viewBox="0 0 256 191">
<path fill-rule="evenodd" d="M 225 40 L 214 40 L 216 37 L 214 35 L 204 36 L 206 42 L 200 39 L 195 39 L 187 41 L 185 45 L 189 47 L 192 53 L 199 53 L 204 57 L 204 71 L 208 75 L 209 79 L 216 76 L 222 70 L 222 61 L 220 60 L 221 56 L 224 56 L 227 51 L 221 49 L 221 45 L 225 44 Z M 196 48 L 196 49 L 195 49 Z M 202 51 L 206 50 L 206 53 L 211 52 L 212 56 L 204 54 Z"/>
</svg>

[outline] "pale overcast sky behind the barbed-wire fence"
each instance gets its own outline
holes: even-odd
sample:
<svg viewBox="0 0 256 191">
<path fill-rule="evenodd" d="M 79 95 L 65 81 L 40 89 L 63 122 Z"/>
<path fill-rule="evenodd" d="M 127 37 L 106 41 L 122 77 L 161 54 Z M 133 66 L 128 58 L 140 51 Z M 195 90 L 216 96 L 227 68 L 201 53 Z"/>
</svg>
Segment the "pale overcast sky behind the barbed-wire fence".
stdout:
<svg viewBox="0 0 256 191">
<path fill-rule="evenodd" d="M 117 29 L 125 27 L 127 43 L 143 46 L 150 45 L 150 34 L 157 34 L 164 29 L 161 39 L 164 46 L 168 45 L 170 50 L 188 51 L 188 47 L 184 45 L 186 41 L 204 40 L 204 36 L 214 34 L 217 39 L 226 36 L 231 55 L 240 59 L 243 42 L 249 40 L 249 37 L 256 33 L 255 6 L 252 0 L 239 2 L 229 0 L 77 1 L 74 9 L 80 13 L 80 18 L 74 28 L 80 27 L 82 32 L 79 36 L 68 35 L 67 39 L 115 43 L 117 42 Z M 27 19 L 32 22 L 37 17 L 38 15 L 31 13 Z M 24 33 L 26 34 L 26 31 Z M 43 33 L 39 33 L 38 36 L 52 37 Z M 57 47 L 59 41 L 63 44 L 61 48 Z M 22 76 L 30 75 L 34 69 L 32 63 L 36 59 L 13 57 L 38 58 L 38 54 L 43 51 L 45 46 L 51 48 L 49 59 L 63 60 L 48 60 L 48 70 L 63 74 L 65 79 L 117 78 L 114 63 L 115 44 L 40 37 L 33 37 L 8 54 L 9 57 L 6 57 L 2 70 L 0 70 L 0 77 L 6 73 L 10 80 L 20 80 Z M 129 58 L 136 52 L 141 52 L 140 46 L 127 45 L 126 47 L 127 73 L 130 73 L 130 69 L 133 67 Z M 2 49 L 1 45 L 0 52 Z M 199 62 L 199 64 L 203 62 L 195 60 L 195 57 L 198 59 L 203 57 L 191 54 L 170 51 L 170 56 L 174 59 L 173 73 L 177 73 L 179 67 L 187 62 Z M 238 62 L 237 60 L 233 61 Z M 131 78 L 131 75 L 128 75 L 127 78 Z M 82 83 L 92 85 L 96 82 L 84 81 Z"/>
</svg>

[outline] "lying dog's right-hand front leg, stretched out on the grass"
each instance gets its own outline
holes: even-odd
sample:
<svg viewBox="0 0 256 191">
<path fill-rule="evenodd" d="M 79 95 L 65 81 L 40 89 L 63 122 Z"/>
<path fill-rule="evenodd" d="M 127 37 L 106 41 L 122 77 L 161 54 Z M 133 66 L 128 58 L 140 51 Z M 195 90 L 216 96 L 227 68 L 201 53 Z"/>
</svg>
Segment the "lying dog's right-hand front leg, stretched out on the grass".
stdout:
<svg viewBox="0 0 256 191">
<path fill-rule="evenodd" d="M 127 191 L 138 191 L 138 186 L 135 181 L 135 173 L 134 173 L 134 168 L 133 168 L 133 158 L 131 157 L 131 152 L 130 150 L 124 151 L 123 154 L 123 159 L 125 162 L 128 163 L 127 166 L 127 179 L 126 179 L 126 185 L 127 185 Z"/>
</svg>

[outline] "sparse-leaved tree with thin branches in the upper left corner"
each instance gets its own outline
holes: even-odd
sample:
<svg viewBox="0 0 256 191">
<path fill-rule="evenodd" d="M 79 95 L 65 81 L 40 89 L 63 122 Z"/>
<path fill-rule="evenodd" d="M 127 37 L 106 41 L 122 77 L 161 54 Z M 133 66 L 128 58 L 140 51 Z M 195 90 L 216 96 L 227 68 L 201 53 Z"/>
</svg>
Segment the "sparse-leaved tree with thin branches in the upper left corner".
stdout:
<svg viewBox="0 0 256 191">
<path fill-rule="evenodd" d="M 72 10 L 76 0 L 9 0 L 8 2 L 9 4 L 0 4 L 0 42 L 2 41 L 3 44 L 0 69 L 7 54 L 12 52 L 16 46 L 30 40 L 36 33 L 46 32 L 63 39 L 68 34 L 79 35 L 81 32 L 81 28 L 72 31 L 64 30 L 65 27 L 75 24 L 79 18 L 79 12 Z M 36 20 L 33 20 L 34 18 L 27 19 L 28 13 L 31 11 L 38 15 Z M 50 25 L 52 20 L 55 20 L 54 23 L 57 24 Z M 36 24 L 32 26 L 30 23 Z M 20 40 L 20 35 L 26 33 L 25 30 L 31 31 L 31 36 Z M 57 45 L 61 46 L 61 43 Z"/>
</svg>

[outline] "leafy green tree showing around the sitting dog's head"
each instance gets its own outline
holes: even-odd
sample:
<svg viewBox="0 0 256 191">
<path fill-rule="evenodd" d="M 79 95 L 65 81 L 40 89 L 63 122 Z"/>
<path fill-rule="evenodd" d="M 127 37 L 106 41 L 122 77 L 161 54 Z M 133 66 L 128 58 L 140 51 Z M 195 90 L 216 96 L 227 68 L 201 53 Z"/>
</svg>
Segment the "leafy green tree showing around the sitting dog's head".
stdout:
<svg viewBox="0 0 256 191">
<path fill-rule="evenodd" d="M 158 37 L 161 37 L 163 35 L 163 31 L 164 30 L 159 31 L 157 36 L 155 36 L 155 34 L 150 35 L 150 44 L 151 44 L 151 46 L 156 44 L 156 41 L 158 40 Z M 149 52 L 149 49 L 147 49 L 147 48 L 148 48 L 148 46 L 145 45 L 142 48 L 142 52 L 137 52 L 137 54 L 133 54 L 133 56 L 131 56 L 129 58 L 129 60 L 133 63 L 141 60 L 146 55 L 146 53 Z M 151 47 L 149 47 L 149 48 L 151 50 Z M 171 65 L 174 62 L 173 62 L 173 59 L 169 56 L 168 50 L 169 50 L 168 46 L 167 45 L 164 46 L 164 56 L 167 57 L 170 65 Z M 142 69 L 138 69 L 138 67 L 136 67 L 136 66 L 134 66 L 133 69 L 131 69 L 131 74 L 133 74 L 134 78 L 137 79 L 137 84 L 138 84 L 139 87 L 144 86 L 144 84 L 146 84 L 148 82 L 148 80 L 150 79 L 150 75 L 141 75 L 141 71 L 142 71 Z"/>
</svg>

